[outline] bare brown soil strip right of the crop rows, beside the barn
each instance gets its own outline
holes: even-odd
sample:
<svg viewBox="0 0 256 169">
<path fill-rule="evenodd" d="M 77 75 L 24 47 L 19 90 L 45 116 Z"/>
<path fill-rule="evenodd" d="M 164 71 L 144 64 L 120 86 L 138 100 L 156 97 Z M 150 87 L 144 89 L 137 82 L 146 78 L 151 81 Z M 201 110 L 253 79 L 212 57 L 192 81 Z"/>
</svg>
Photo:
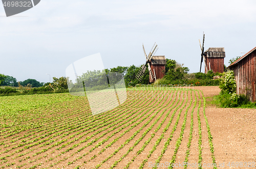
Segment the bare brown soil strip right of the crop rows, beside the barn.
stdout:
<svg viewBox="0 0 256 169">
<path fill-rule="evenodd" d="M 202 90 L 205 97 L 219 94 L 218 86 L 194 87 Z M 214 143 L 215 158 L 219 165 L 230 168 L 256 167 L 256 110 L 241 108 L 205 109 Z M 230 162 L 230 166 L 227 166 Z M 233 164 L 232 164 L 233 162 Z M 237 165 L 240 163 L 241 166 Z M 246 163 L 247 162 L 247 163 Z M 247 166 L 245 166 L 247 165 Z"/>
</svg>

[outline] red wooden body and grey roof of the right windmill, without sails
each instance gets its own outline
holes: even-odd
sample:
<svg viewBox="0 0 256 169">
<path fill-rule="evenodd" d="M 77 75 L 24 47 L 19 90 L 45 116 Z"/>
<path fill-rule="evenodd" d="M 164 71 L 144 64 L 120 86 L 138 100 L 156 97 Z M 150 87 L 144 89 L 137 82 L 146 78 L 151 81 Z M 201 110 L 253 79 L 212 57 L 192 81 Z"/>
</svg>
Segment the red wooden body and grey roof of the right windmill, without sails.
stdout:
<svg viewBox="0 0 256 169">
<path fill-rule="evenodd" d="M 223 73 L 225 58 L 224 47 L 209 47 L 209 49 L 204 52 L 204 56 L 205 73 L 207 73 L 207 70 L 212 70 L 214 73 Z"/>
</svg>

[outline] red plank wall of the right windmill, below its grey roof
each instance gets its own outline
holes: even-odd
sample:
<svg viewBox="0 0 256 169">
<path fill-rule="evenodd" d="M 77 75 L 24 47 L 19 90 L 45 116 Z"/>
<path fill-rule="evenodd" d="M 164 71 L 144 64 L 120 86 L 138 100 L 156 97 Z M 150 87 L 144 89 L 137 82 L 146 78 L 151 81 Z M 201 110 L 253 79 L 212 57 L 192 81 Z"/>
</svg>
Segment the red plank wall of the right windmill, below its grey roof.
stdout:
<svg viewBox="0 0 256 169">
<path fill-rule="evenodd" d="M 214 71 L 214 73 L 219 72 L 223 73 L 224 71 L 224 58 L 207 58 L 205 57 L 207 69 L 209 70 L 209 62 L 210 69 Z M 206 67 L 204 68 L 204 73 L 206 73 Z"/>
</svg>

